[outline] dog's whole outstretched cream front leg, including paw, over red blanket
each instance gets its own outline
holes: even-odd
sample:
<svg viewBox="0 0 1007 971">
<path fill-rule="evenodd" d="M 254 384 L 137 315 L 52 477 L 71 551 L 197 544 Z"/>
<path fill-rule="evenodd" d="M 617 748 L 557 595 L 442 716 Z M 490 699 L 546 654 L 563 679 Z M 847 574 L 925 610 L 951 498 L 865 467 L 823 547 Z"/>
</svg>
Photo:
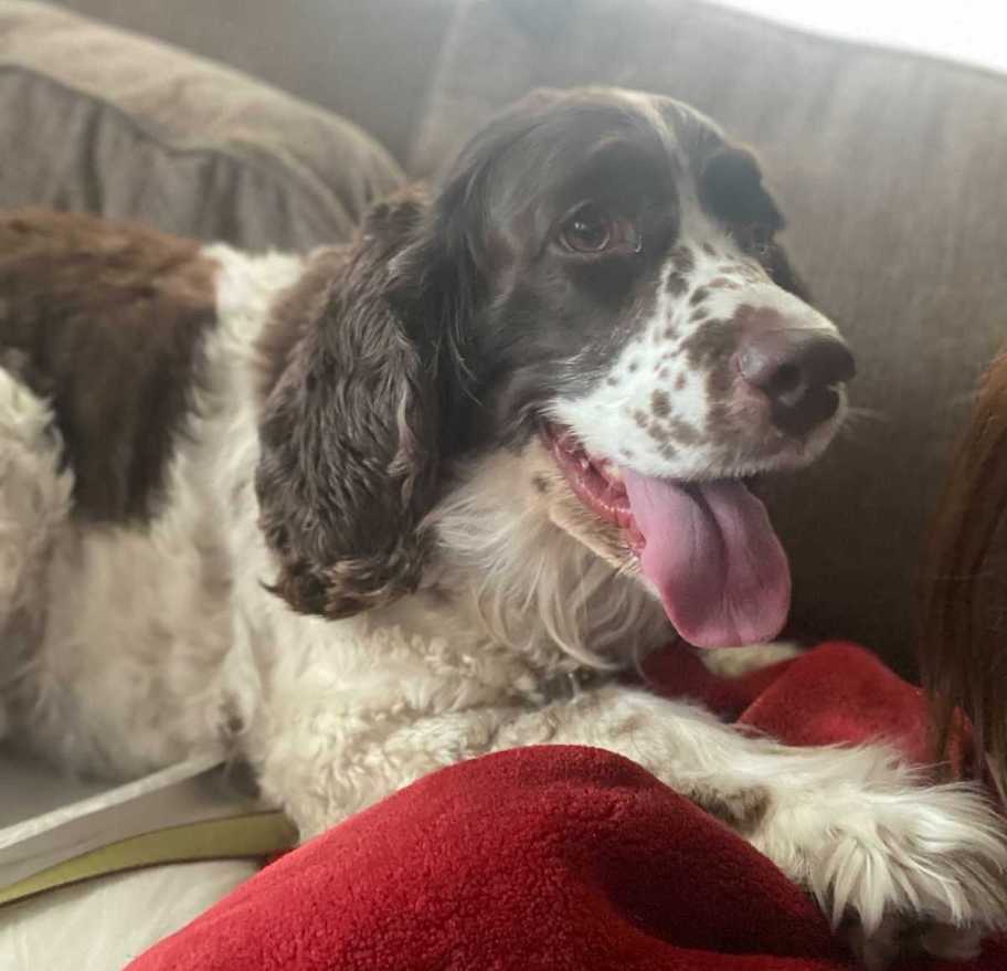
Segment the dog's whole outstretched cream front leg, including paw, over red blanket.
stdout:
<svg viewBox="0 0 1007 971">
<path fill-rule="evenodd" d="M 922 785 L 883 747 L 793 749 L 691 705 L 604 687 L 536 711 L 351 714 L 329 696 L 274 721 L 265 791 L 305 834 L 436 768 L 537 743 L 640 763 L 767 854 L 820 903 L 870 967 L 912 936 L 961 957 L 1007 927 L 1007 834 L 966 787 Z"/>
</svg>

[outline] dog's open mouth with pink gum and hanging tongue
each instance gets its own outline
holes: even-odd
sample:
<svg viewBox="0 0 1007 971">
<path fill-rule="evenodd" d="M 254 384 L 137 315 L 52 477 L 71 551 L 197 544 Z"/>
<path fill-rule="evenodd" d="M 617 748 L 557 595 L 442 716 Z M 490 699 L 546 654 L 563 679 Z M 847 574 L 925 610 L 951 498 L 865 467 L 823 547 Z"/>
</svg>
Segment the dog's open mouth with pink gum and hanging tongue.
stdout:
<svg viewBox="0 0 1007 971">
<path fill-rule="evenodd" d="M 689 643 L 728 647 L 780 633 L 789 611 L 789 566 L 745 481 L 643 475 L 592 456 L 568 429 L 550 425 L 544 437 L 577 499 L 622 530 Z"/>
</svg>

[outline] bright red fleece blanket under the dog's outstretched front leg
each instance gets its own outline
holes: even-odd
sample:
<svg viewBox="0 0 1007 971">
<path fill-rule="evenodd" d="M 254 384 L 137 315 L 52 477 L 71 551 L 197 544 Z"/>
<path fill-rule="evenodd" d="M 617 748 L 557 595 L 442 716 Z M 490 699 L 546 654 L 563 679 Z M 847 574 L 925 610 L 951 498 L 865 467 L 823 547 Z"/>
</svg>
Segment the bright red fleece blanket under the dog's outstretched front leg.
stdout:
<svg viewBox="0 0 1007 971">
<path fill-rule="evenodd" d="M 851 644 L 738 680 L 651 675 L 793 745 L 883 735 L 921 759 L 916 688 Z M 288 854 L 131 971 L 836 971 L 817 907 L 638 766 L 537 747 L 436 772 Z M 1007 943 L 969 964 L 1007 969 Z"/>
</svg>

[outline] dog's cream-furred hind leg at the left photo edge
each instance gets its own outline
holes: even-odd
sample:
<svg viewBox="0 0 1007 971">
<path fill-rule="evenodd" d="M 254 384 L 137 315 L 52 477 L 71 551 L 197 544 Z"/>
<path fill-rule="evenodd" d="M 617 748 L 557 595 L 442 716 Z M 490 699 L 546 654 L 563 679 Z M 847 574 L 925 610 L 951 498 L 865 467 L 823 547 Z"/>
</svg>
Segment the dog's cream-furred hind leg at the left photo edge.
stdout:
<svg viewBox="0 0 1007 971">
<path fill-rule="evenodd" d="M 3 697 L 20 674 L 45 609 L 45 564 L 70 510 L 72 475 L 60 471 L 52 413 L 0 361 L 0 736 Z"/>
</svg>

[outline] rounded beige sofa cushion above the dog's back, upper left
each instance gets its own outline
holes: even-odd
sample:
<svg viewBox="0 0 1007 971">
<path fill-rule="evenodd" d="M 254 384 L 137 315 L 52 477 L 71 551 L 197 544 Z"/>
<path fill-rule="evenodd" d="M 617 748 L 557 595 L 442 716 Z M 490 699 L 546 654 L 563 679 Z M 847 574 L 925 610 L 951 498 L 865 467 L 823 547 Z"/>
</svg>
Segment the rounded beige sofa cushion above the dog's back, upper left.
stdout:
<svg viewBox="0 0 1007 971">
<path fill-rule="evenodd" d="M 344 239 L 398 166 L 354 125 L 42 3 L 0 4 L 0 207 L 142 220 L 248 249 Z"/>
</svg>

